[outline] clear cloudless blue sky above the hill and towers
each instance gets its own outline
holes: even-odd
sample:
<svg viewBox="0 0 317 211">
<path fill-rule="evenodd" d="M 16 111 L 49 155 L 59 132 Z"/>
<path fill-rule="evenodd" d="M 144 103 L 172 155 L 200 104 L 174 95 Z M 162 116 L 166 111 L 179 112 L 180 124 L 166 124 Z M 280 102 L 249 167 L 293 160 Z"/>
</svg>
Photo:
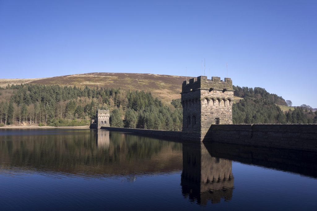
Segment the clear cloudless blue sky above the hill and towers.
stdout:
<svg viewBox="0 0 317 211">
<path fill-rule="evenodd" d="M 227 76 L 317 108 L 317 1 L 0 0 L 0 78 Z"/>
</svg>

